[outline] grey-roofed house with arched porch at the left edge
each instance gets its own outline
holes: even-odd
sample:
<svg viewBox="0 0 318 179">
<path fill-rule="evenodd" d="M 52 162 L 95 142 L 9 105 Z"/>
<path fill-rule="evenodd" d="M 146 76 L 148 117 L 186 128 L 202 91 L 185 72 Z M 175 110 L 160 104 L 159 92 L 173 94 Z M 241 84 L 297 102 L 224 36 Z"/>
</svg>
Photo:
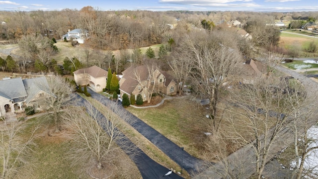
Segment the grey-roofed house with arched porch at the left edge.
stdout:
<svg viewBox="0 0 318 179">
<path fill-rule="evenodd" d="M 14 78 L 0 81 L 0 116 L 22 111 L 26 106 L 37 105 L 36 101 L 51 93 L 46 78 Z"/>
</svg>

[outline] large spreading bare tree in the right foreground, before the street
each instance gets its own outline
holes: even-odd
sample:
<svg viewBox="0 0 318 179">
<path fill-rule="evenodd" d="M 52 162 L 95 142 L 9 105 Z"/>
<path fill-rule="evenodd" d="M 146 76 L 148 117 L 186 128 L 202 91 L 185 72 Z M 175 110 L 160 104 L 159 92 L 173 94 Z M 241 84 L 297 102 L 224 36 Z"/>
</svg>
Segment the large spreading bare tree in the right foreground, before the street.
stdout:
<svg viewBox="0 0 318 179">
<path fill-rule="evenodd" d="M 237 148 L 245 145 L 252 148 L 255 160 L 251 165 L 258 179 L 268 160 L 285 145 L 281 132 L 294 115 L 291 102 L 297 100 L 299 93 L 305 97 L 301 88 L 290 88 L 286 82 L 288 80 L 279 80 L 273 75 L 254 79 L 252 84 L 239 85 L 230 95 L 234 100 L 227 106 L 233 112 L 232 117 L 227 118 L 231 126 L 228 136 Z"/>
</svg>

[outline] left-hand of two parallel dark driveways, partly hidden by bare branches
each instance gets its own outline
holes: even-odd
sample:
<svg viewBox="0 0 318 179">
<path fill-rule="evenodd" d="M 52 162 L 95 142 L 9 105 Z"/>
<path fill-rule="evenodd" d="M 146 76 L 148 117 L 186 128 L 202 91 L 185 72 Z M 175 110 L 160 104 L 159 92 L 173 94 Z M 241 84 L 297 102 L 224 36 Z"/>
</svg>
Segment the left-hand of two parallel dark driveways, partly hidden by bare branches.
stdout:
<svg viewBox="0 0 318 179">
<path fill-rule="evenodd" d="M 89 89 L 88 89 L 89 90 Z M 92 93 L 92 91 L 89 91 Z M 79 99 L 80 104 L 85 104 L 85 99 L 80 97 L 78 94 L 74 93 L 76 95 L 76 98 Z M 93 93 L 92 93 L 93 94 Z M 94 110 L 97 110 L 96 108 Z M 98 120 L 107 120 L 106 117 L 98 112 Z M 159 179 L 164 174 L 169 172 L 169 170 L 157 162 L 155 162 L 153 159 L 151 159 L 148 155 L 146 155 L 140 148 L 138 148 L 133 142 L 131 142 L 124 134 L 122 141 L 119 142 L 125 142 L 125 144 L 128 144 L 132 148 L 135 148 L 133 151 L 134 153 L 127 152 L 127 155 L 131 158 L 132 161 L 137 165 L 143 179 Z M 137 155 L 136 155 L 137 152 Z M 169 176 L 166 176 L 164 179 L 183 179 L 182 177 L 178 176 L 177 174 L 172 173 Z"/>
</svg>

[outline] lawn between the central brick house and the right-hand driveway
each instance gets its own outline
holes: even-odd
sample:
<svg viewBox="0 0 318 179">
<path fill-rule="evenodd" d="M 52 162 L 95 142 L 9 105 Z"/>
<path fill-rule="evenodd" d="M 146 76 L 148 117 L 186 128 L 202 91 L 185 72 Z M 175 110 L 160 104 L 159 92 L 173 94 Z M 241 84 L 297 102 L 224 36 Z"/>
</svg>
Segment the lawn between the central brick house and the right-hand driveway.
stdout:
<svg viewBox="0 0 318 179">
<path fill-rule="evenodd" d="M 190 97 L 165 100 L 156 108 L 129 107 L 127 110 L 190 154 L 203 158 L 200 148 L 206 137 L 204 132 L 209 131 L 208 119 L 205 108 Z"/>
</svg>

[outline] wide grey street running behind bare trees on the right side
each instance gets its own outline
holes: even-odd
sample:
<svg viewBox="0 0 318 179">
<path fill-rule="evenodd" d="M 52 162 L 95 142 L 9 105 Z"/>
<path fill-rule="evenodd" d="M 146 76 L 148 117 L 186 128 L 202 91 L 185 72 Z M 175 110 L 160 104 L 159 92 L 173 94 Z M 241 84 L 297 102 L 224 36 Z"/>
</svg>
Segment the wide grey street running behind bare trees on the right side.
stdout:
<svg viewBox="0 0 318 179">
<path fill-rule="evenodd" d="M 278 66 L 276 69 L 299 80 L 306 88 L 308 96 L 317 95 L 318 84 L 312 79 L 284 67 Z M 314 125 L 316 121 L 317 118 L 309 121 L 309 124 Z M 303 129 L 299 129 L 299 132 L 302 133 L 302 130 Z M 271 147 L 272 153 L 269 155 L 268 160 L 282 151 L 283 148 L 293 143 L 293 137 L 291 136 L 293 136 L 293 131 L 290 128 L 284 128 L 281 132 L 279 132 Z M 232 173 L 235 176 L 234 178 L 248 179 L 255 172 L 255 154 L 250 144 L 228 156 L 227 161 L 229 166 L 225 166 L 223 163 L 219 162 L 195 176 L 194 179 L 223 179 L 225 171 Z M 243 170 L 242 166 L 244 167 Z M 274 171 L 271 172 L 274 173 Z"/>
</svg>

